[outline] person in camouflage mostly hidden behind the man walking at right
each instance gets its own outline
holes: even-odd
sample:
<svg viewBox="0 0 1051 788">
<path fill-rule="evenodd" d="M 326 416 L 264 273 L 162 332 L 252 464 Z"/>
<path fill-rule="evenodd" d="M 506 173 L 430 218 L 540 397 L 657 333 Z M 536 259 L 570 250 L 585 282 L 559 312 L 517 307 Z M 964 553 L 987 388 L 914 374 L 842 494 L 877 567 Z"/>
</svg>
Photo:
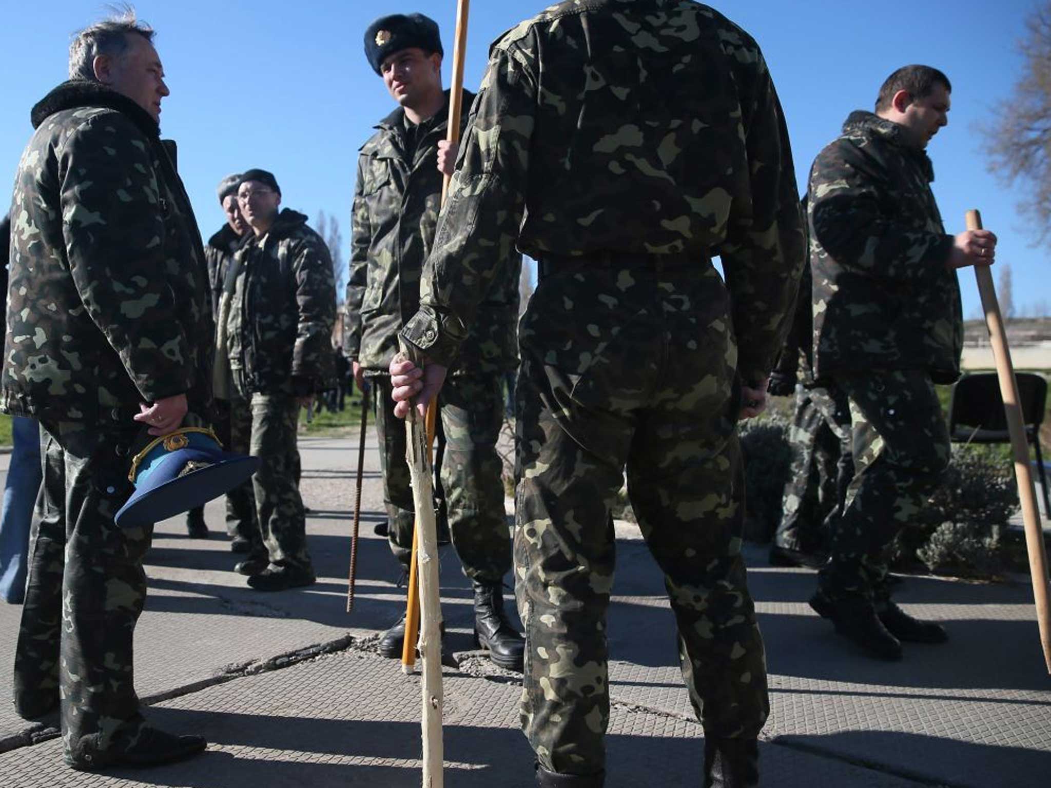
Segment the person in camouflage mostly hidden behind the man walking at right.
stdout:
<svg viewBox="0 0 1051 788">
<path fill-rule="evenodd" d="M 804 212 L 806 204 L 804 198 Z M 775 566 L 824 565 L 830 534 L 843 516 L 853 478 L 846 395 L 828 378 L 813 379 L 811 289 L 807 264 L 796 297 L 796 316 L 767 387 L 775 396 L 796 396 L 788 433 L 791 469 L 781 501 L 781 522 L 770 545 Z"/>
</svg>

